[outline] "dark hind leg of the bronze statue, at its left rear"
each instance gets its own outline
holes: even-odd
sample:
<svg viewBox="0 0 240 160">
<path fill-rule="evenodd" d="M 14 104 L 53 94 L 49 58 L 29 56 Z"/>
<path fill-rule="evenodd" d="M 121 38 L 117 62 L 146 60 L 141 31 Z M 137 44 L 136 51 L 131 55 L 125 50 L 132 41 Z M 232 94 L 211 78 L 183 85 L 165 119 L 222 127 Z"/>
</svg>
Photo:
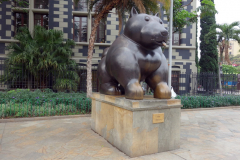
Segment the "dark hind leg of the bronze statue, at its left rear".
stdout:
<svg viewBox="0 0 240 160">
<path fill-rule="evenodd" d="M 118 82 L 107 73 L 105 60 L 106 57 L 103 57 L 98 65 L 99 91 L 102 94 L 121 95 L 124 91 L 118 86 Z"/>
</svg>

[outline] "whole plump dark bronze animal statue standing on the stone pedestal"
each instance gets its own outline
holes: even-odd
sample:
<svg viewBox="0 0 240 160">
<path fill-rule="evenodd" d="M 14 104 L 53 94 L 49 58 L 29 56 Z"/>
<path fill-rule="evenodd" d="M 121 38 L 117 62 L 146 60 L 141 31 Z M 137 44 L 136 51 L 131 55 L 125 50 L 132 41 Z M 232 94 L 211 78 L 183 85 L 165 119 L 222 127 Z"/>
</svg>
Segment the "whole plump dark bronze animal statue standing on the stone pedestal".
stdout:
<svg viewBox="0 0 240 160">
<path fill-rule="evenodd" d="M 161 46 L 168 32 L 158 14 L 138 14 L 133 8 L 124 32 L 102 54 L 98 65 L 100 93 L 143 99 L 145 80 L 154 98 L 169 99 L 168 64 Z"/>
</svg>

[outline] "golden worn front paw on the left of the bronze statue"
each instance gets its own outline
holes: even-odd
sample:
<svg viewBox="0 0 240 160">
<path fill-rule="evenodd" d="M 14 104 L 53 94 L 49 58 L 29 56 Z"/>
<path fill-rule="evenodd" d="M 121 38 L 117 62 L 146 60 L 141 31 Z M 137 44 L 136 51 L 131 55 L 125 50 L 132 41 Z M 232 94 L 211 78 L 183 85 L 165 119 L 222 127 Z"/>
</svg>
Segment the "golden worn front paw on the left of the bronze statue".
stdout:
<svg viewBox="0 0 240 160">
<path fill-rule="evenodd" d="M 125 97 L 128 99 L 143 99 L 143 89 L 139 82 L 127 85 L 125 88 Z"/>
</svg>

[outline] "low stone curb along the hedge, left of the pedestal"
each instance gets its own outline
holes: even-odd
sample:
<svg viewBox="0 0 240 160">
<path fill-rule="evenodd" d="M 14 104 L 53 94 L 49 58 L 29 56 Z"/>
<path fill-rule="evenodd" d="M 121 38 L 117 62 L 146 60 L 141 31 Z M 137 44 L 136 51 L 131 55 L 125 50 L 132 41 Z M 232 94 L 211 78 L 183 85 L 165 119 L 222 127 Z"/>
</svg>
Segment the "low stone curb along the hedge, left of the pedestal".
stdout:
<svg viewBox="0 0 240 160">
<path fill-rule="evenodd" d="M 91 114 L 67 115 L 67 116 L 51 116 L 51 117 L 9 118 L 9 119 L 0 119 L 0 123 L 24 122 L 24 121 L 41 121 L 41 120 L 55 120 L 55 119 L 66 119 L 66 118 L 80 118 L 80 117 L 91 117 Z"/>
</svg>

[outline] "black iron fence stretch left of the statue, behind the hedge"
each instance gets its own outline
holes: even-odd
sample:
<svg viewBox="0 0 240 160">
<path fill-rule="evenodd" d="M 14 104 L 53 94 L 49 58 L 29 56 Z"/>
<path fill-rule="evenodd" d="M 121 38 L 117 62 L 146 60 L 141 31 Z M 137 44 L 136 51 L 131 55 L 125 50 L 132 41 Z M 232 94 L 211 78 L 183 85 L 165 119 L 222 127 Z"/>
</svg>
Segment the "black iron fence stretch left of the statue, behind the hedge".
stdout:
<svg viewBox="0 0 240 160">
<path fill-rule="evenodd" d="M 72 81 L 73 75 L 67 73 L 63 73 L 61 79 L 58 76 L 59 73 L 54 71 L 39 71 L 37 74 L 31 74 L 24 65 L 14 69 L 7 67 L 5 60 L 0 60 L 0 90 L 50 88 L 55 92 L 71 90 L 86 92 L 86 64 L 78 64 L 74 73 L 77 73 L 76 81 Z M 92 87 L 94 92 L 98 92 L 97 65 L 92 65 Z"/>
</svg>

